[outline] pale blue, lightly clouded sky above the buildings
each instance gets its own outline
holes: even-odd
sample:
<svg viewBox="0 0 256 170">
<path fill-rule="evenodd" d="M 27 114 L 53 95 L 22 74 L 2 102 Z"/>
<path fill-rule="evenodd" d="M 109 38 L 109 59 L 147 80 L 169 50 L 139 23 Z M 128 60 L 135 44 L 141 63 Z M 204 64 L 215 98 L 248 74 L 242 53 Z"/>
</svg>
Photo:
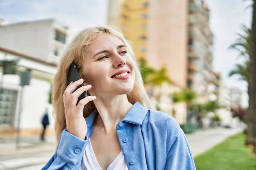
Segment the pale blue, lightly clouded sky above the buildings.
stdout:
<svg viewBox="0 0 256 170">
<path fill-rule="evenodd" d="M 236 33 L 242 33 L 241 24 L 250 26 L 252 8 L 247 8 L 250 0 L 205 2 L 210 8 L 210 28 L 214 34 L 213 69 L 221 72 L 225 85 L 241 88 L 242 105 L 246 107 L 247 84 L 236 76 L 228 77 L 242 59 L 237 59 L 238 52 L 228 47 L 236 42 Z M 107 24 L 108 0 L 0 0 L 0 18 L 4 24 L 55 18 L 69 26 L 69 41 L 83 28 Z"/>
</svg>

